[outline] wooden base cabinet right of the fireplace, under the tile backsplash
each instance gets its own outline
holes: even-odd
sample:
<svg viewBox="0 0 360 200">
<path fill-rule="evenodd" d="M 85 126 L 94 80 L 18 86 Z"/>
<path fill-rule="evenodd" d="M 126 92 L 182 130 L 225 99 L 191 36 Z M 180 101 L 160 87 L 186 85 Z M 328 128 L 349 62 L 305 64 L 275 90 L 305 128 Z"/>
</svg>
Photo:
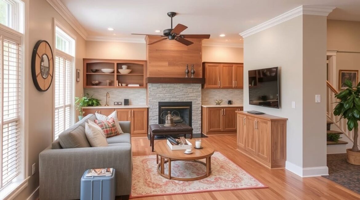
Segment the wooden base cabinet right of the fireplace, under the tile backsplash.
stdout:
<svg viewBox="0 0 360 200">
<path fill-rule="evenodd" d="M 205 135 L 235 134 L 236 111 L 243 107 L 202 107 L 202 133 Z"/>
</svg>

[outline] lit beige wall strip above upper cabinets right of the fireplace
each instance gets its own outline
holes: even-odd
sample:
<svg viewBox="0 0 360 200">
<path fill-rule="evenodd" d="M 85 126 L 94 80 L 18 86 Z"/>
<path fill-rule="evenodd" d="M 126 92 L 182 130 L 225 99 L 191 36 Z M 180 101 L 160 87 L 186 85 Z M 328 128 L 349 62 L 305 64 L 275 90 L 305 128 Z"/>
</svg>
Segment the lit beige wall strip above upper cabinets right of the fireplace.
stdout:
<svg viewBox="0 0 360 200">
<path fill-rule="evenodd" d="M 243 63 L 244 49 L 235 47 L 203 46 L 203 62 Z"/>
</svg>

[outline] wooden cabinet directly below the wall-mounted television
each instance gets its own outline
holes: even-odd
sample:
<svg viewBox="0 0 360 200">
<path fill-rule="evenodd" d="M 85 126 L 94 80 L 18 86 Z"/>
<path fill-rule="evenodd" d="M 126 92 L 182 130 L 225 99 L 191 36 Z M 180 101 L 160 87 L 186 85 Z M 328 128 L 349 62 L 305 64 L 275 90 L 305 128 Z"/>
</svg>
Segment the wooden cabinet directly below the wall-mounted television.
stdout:
<svg viewBox="0 0 360 200">
<path fill-rule="evenodd" d="M 237 112 L 238 150 L 270 169 L 284 168 L 287 118 Z"/>
</svg>

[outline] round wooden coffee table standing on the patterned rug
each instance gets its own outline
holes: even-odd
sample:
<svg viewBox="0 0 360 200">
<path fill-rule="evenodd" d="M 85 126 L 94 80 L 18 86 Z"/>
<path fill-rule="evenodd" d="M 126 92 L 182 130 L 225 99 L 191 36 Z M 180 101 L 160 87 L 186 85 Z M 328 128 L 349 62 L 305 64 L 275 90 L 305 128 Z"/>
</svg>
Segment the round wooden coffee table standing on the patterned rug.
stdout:
<svg viewBox="0 0 360 200">
<path fill-rule="evenodd" d="M 193 144 L 193 153 L 185 154 L 185 150 L 171 150 L 167 145 L 167 140 L 156 142 L 154 150 L 156 152 L 156 163 L 158 173 L 167 179 L 174 179 L 177 181 L 195 181 L 206 178 L 211 174 L 211 156 L 214 154 L 215 149 L 210 145 L 202 142 L 202 149 L 195 149 L 195 140 L 189 140 Z M 158 156 L 160 156 L 160 163 L 158 162 Z M 200 159 L 206 159 L 206 163 L 200 161 Z M 175 160 L 192 161 L 201 163 L 206 167 L 206 174 L 194 178 L 179 178 L 171 177 L 171 162 Z M 165 174 L 164 165 L 168 163 L 168 174 Z"/>
</svg>

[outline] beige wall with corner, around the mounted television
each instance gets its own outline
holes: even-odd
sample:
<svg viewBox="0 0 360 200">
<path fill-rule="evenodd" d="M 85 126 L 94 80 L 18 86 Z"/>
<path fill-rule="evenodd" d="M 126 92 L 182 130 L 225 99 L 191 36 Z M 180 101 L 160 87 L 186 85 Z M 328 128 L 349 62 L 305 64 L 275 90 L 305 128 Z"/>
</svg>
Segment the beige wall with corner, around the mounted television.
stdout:
<svg viewBox="0 0 360 200">
<path fill-rule="evenodd" d="M 312 15 L 298 16 L 244 38 L 244 74 L 251 69 L 280 67 L 280 109 L 249 105 L 248 87 L 244 87 L 244 110 L 288 118 L 286 168 L 300 176 L 306 176 L 306 168 L 312 167 L 327 173 L 325 41 L 326 17 Z M 248 84 L 244 76 L 244 86 Z M 323 97 L 322 103 L 315 103 L 315 94 Z M 292 101 L 296 108 L 291 107 Z"/>
</svg>

